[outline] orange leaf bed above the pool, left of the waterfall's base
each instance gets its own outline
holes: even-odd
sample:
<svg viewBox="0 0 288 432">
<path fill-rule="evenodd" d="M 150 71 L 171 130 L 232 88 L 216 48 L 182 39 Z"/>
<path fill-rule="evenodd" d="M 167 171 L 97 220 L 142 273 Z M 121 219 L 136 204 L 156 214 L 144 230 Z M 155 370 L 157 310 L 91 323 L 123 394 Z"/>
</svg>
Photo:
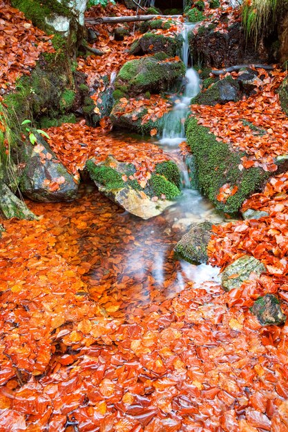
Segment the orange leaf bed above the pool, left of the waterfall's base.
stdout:
<svg viewBox="0 0 288 432">
<path fill-rule="evenodd" d="M 77 175 L 90 157 L 102 162 L 108 156 L 133 164 L 135 179 L 142 181 L 151 175 L 155 165 L 171 159 L 155 144 L 122 135 L 107 135 L 101 128 L 90 128 L 82 120 L 79 124 L 62 124 L 47 130 L 49 145 L 66 168 Z"/>
</svg>

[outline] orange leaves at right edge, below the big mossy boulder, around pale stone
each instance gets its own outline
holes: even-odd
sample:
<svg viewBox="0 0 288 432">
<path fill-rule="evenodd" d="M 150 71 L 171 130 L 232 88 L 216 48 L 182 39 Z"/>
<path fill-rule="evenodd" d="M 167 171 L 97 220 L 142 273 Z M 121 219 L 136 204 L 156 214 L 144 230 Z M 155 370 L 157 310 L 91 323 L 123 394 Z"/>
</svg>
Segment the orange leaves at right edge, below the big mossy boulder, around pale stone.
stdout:
<svg viewBox="0 0 288 432">
<path fill-rule="evenodd" d="M 242 255 L 252 255 L 265 264 L 267 273 L 229 293 L 229 304 L 251 306 L 265 293 L 278 293 L 288 300 L 288 173 L 272 177 L 263 193 L 247 199 L 242 210 L 266 211 L 261 219 L 230 222 L 214 226 L 209 244 L 210 262 L 224 268 Z"/>
</svg>

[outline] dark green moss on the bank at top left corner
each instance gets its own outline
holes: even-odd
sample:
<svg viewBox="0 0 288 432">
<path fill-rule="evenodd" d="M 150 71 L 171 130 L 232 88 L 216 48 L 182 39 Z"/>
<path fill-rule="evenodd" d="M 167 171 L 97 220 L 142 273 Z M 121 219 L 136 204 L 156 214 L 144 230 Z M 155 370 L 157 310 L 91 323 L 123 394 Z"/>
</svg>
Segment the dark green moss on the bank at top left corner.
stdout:
<svg viewBox="0 0 288 432">
<path fill-rule="evenodd" d="M 11 0 L 11 4 L 48 34 L 55 30 L 46 23 L 46 18 L 53 17 L 54 14 L 72 17 L 71 10 L 57 0 Z"/>
</svg>

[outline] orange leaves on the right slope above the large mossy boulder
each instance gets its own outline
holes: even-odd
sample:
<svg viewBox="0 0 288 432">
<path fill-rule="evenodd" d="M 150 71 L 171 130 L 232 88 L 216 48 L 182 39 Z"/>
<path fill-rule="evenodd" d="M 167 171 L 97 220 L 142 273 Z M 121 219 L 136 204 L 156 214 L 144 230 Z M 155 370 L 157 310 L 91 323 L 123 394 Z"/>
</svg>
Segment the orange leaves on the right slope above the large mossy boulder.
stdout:
<svg viewBox="0 0 288 432">
<path fill-rule="evenodd" d="M 273 70 L 267 73 L 258 70 L 257 94 L 238 102 L 211 107 L 192 105 L 191 110 L 198 118 L 198 124 L 207 126 L 219 141 L 230 144 L 236 150 L 244 150 L 249 155 L 242 158 L 239 169 L 261 166 L 266 171 L 275 171 L 274 158 L 288 152 L 288 121 L 279 104 L 276 93 L 286 72 Z M 232 75 L 236 75 L 233 73 Z M 243 120 L 267 131 L 256 134 Z"/>
</svg>

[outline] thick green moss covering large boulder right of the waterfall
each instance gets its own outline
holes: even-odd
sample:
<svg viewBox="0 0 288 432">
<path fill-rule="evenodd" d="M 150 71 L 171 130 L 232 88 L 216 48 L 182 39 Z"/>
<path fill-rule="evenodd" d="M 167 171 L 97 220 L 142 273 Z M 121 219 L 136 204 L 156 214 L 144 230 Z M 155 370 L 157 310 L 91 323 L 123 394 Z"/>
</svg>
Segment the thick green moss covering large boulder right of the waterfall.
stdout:
<svg viewBox="0 0 288 432">
<path fill-rule="evenodd" d="M 208 128 L 200 126 L 195 117 L 186 120 L 186 137 L 195 157 L 195 174 L 198 177 L 199 188 L 218 210 L 234 214 L 238 212 L 242 202 L 255 190 L 265 184 L 269 178 L 261 168 L 249 168 L 242 171 L 238 166 L 244 152 L 234 152 L 228 144 L 216 141 L 215 135 Z M 238 186 L 235 195 L 227 202 L 217 199 L 220 188 L 224 184 Z"/>
</svg>

